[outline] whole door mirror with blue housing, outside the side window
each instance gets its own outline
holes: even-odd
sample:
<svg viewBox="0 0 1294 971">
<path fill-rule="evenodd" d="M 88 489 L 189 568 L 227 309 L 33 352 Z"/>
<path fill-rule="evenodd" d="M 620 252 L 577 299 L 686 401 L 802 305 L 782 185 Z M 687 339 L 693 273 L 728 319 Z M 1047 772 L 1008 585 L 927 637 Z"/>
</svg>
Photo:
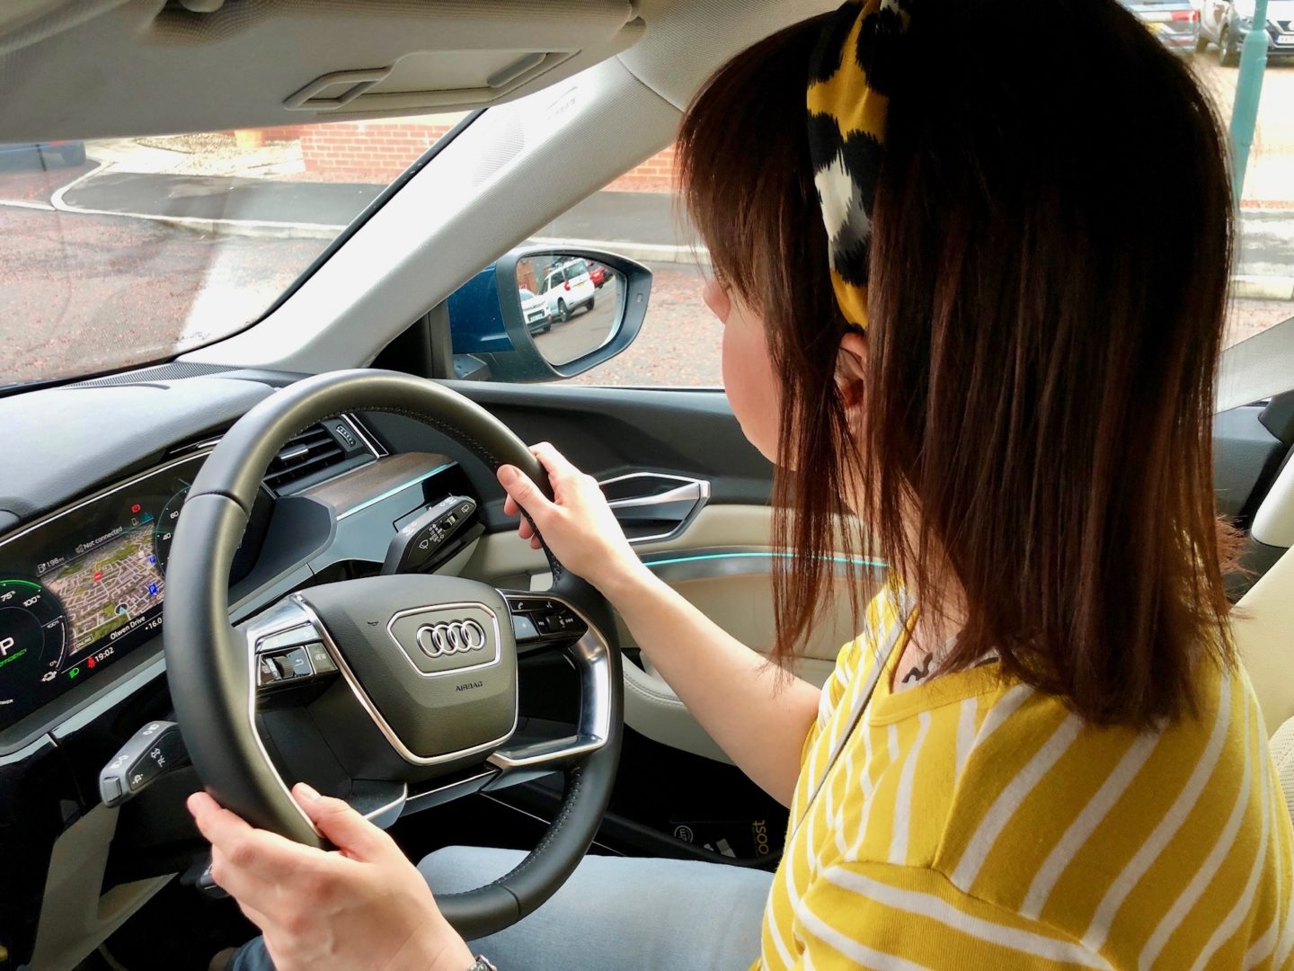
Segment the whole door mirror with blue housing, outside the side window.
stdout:
<svg viewBox="0 0 1294 971">
<path fill-rule="evenodd" d="M 553 276 L 562 271 L 562 277 Z M 541 293 L 545 281 L 551 287 Z M 520 246 L 449 296 L 455 372 L 475 359 L 494 381 L 537 383 L 582 374 L 638 337 L 651 271 L 599 250 Z"/>
</svg>

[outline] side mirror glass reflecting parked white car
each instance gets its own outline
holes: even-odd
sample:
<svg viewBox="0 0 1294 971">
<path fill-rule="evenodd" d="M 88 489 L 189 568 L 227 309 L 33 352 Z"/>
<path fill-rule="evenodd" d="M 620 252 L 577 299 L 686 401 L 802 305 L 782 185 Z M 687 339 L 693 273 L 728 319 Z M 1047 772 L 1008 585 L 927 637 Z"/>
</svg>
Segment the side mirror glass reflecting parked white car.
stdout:
<svg viewBox="0 0 1294 971">
<path fill-rule="evenodd" d="M 624 317 L 625 274 L 578 256 L 523 256 L 516 290 L 525 328 L 549 364 L 571 364 L 604 347 Z"/>
</svg>

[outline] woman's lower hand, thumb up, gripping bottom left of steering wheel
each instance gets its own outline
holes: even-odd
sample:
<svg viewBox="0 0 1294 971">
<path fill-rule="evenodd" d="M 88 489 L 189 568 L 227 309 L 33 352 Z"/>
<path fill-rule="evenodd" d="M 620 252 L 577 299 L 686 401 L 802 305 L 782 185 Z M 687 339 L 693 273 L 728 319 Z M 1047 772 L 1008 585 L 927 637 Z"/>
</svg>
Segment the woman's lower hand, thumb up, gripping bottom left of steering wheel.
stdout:
<svg viewBox="0 0 1294 971">
<path fill-rule="evenodd" d="M 467 944 L 391 836 L 309 786 L 292 796 L 338 852 L 252 829 L 206 792 L 188 803 L 211 840 L 212 878 L 261 930 L 277 971 L 471 967 Z"/>
</svg>

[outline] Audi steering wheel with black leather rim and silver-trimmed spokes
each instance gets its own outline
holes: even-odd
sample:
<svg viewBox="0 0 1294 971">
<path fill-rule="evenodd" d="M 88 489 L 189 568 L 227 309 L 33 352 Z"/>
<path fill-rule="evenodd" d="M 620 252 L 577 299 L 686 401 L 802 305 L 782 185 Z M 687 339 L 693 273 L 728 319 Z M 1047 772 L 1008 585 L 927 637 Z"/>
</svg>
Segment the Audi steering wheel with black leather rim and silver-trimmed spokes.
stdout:
<svg viewBox="0 0 1294 971">
<path fill-rule="evenodd" d="M 383 826 L 402 812 L 564 773 L 553 823 L 511 873 L 437 897 L 459 933 L 479 937 L 543 904 L 598 830 L 624 726 L 616 628 L 606 599 L 551 553 L 554 584 L 541 594 L 396 574 L 308 586 L 232 627 L 226 577 L 270 460 L 292 435 L 352 410 L 423 421 L 492 471 L 515 465 L 553 495 L 538 460 L 506 426 L 440 385 L 364 369 L 278 391 L 220 440 L 176 526 L 163 608 L 176 719 L 199 778 L 221 805 L 313 847 L 326 844 L 291 798 L 285 773 L 347 799 Z M 512 614 L 527 608 L 521 597 L 555 610 L 562 629 L 538 633 L 527 624 L 514 633 Z M 578 725 L 567 738 L 520 743 L 518 656 L 543 650 L 565 650 L 578 672 Z M 285 665 L 298 671 L 282 672 Z M 280 673 L 302 686 L 267 684 Z"/>
</svg>

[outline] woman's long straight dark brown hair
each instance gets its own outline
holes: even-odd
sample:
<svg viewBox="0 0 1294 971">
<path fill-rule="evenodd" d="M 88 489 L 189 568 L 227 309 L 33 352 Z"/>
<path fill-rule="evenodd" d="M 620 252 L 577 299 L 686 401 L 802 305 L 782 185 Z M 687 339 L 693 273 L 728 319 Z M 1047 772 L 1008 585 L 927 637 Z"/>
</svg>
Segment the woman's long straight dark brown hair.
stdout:
<svg viewBox="0 0 1294 971">
<path fill-rule="evenodd" d="M 1211 458 L 1232 246 L 1215 113 L 1114 0 L 914 9 L 857 436 L 805 128 L 822 18 L 725 65 L 679 135 L 714 273 L 766 321 L 782 385 L 779 466 L 797 471 L 774 496 L 796 553 L 774 576 L 779 653 L 818 619 L 829 554 L 862 548 L 833 526 L 858 496 L 870 549 L 923 610 L 947 607 L 939 564 L 954 575 L 967 623 L 942 669 L 995 650 L 1090 720 L 1180 716 L 1200 653 L 1233 659 Z"/>
</svg>

